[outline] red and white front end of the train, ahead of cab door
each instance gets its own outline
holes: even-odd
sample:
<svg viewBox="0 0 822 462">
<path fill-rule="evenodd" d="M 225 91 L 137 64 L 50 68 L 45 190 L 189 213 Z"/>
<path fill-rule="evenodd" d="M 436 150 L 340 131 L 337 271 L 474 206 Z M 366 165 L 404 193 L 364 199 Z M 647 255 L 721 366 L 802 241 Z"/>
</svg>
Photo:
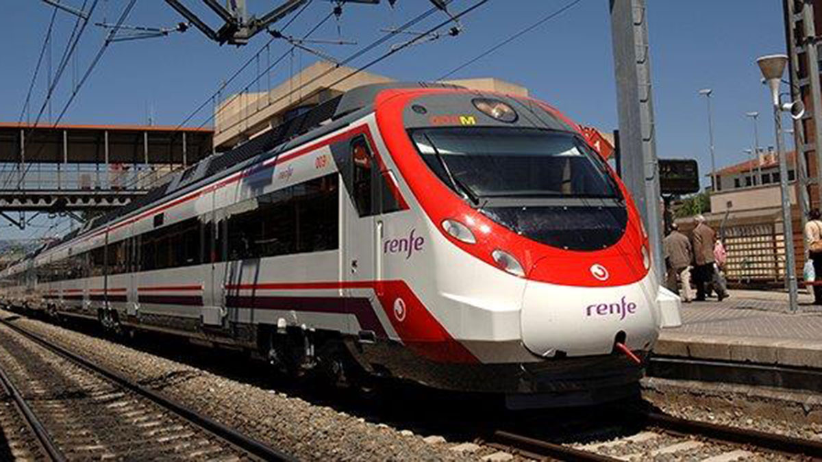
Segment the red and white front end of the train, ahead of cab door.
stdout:
<svg viewBox="0 0 822 462">
<path fill-rule="evenodd" d="M 413 265 L 386 256 L 385 278 L 406 281 L 447 337 L 406 330 L 415 353 L 391 371 L 504 393 L 513 408 L 635 389 L 679 302 L 659 287 L 629 192 L 580 127 L 533 99 L 456 88 L 383 90 L 376 122 L 416 214 L 386 215 L 386 229 L 425 239 Z"/>
</svg>

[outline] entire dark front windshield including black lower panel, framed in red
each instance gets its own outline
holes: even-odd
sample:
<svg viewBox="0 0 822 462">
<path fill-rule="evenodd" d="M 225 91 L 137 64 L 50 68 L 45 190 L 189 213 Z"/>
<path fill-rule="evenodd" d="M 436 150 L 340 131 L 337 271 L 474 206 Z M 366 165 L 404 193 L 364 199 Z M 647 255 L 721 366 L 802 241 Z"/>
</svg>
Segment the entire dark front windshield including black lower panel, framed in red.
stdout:
<svg viewBox="0 0 822 462">
<path fill-rule="evenodd" d="M 617 243 L 627 211 L 603 160 L 572 132 L 515 127 L 413 130 L 429 169 L 483 214 L 541 243 Z"/>
</svg>

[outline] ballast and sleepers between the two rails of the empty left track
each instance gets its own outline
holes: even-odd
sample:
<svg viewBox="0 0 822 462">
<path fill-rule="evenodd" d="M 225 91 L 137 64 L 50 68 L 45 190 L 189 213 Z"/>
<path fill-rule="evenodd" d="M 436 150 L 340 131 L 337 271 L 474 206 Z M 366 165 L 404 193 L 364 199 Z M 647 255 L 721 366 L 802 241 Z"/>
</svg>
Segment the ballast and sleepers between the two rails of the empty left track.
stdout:
<svg viewBox="0 0 822 462">
<path fill-rule="evenodd" d="M 247 460 L 158 404 L 0 326 L 0 367 L 67 460 Z"/>
</svg>

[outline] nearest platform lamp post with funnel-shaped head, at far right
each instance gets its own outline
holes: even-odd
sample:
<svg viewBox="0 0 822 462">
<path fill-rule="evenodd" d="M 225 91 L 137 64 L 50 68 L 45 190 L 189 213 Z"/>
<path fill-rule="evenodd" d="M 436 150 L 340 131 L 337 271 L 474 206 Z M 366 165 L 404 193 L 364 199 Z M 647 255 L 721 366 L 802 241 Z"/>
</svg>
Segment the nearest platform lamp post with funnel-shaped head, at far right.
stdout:
<svg viewBox="0 0 822 462">
<path fill-rule="evenodd" d="M 805 113 L 801 101 L 782 103 L 779 85 L 787 64 L 787 55 L 771 54 L 756 60 L 762 76 L 771 90 L 771 100 L 774 104 L 774 125 L 776 126 L 776 153 L 779 158 L 779 190 L 782 192 L 782 220 L 783 239 L 785 247 L 785 280 L 787 283 L 788 303 L 791 312 L 797 312 L 797 265 L 793 253 L 793 224 L 791 219 L 791 198 L 787 190 L 787 159 L 782 146 L 782 113 L 791 113 L 792 118 L 801 118 Z"/>
</svg>

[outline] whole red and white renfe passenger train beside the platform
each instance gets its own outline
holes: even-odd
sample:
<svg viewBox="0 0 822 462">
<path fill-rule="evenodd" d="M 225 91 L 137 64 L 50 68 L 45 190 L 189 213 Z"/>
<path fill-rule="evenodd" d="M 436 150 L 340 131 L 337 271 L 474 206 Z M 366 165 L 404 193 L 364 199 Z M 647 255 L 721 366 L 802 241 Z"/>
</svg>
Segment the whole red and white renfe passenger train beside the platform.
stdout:
<svg viewBox="0 0 822 462">
<path fill-rule="evenodd" d="M 512 409 L 616 400 L 679 298 L 589 132 L 537 99 L 365 85 L 0 273 L 0 303 Z"/>
</svg>

